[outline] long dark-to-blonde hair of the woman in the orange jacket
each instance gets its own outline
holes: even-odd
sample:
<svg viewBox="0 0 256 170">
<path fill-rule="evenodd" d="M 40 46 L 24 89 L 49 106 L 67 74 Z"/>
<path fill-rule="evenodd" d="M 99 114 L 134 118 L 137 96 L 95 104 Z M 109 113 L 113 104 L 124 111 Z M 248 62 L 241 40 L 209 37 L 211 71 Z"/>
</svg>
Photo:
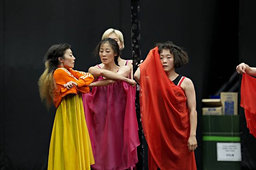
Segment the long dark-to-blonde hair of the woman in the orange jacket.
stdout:
<svg viewBox="0 0 256 170">
<path fill-rule="evenodd" d="M 58 58 L 63 58 L 67 49 L 71 49 L 71 46 L 67 43 L 55 44 L 47 50 L 44 56 L 45 70 L 38 80 L 38 88 L 40 98 L 46 104 L 47 109 L 50 108 L 53 102 L 54 90 L 56 88 L 53 73 L 60 65 Z"/>
</svg>

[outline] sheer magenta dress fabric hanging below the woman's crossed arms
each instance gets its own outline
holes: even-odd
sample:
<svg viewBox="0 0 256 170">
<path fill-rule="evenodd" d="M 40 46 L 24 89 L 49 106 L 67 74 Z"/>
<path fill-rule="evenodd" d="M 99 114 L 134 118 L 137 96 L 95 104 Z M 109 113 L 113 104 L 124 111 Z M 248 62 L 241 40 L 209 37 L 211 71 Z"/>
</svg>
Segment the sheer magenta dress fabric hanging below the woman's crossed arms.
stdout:
<svg viewBox="0 0 256 170">
<path fill-rule="evenodd" d="M 102 80 L 100 77 L 95 81 Z M 135 87 L 116 82 L 83 94 L 85 119 L 91 138 L 95 170 L 124 170 L 138 162 L 138 124 Z"/>
</svg>

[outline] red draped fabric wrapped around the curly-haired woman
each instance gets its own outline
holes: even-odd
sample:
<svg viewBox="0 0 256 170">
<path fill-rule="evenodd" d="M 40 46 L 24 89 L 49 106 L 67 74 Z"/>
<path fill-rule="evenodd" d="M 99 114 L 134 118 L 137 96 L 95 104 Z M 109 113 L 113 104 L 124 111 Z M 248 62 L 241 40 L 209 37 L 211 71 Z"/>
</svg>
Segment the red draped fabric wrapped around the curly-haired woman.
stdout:
<svg viewBox="0 0 256 170">
<path fill-rule="evenodd" d="M 196 170 L 188 150 L 189 110 L 184 90 L 163 70 L 158 47 L 140 66 L 140 111 L 149 146 L 149 170 Z"/>
</svg>

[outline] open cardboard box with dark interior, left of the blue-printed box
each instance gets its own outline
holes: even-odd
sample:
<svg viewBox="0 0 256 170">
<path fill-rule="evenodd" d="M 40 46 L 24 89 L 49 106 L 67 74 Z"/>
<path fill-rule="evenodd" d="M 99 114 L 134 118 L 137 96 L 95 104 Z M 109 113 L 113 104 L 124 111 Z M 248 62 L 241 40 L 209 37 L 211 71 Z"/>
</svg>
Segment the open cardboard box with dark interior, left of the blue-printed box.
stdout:
<svg viewBox="0 0 256 170">
<path fill-rule="evenodd" d="M 221 99 L 202 99 L 203 115 L 222 115 Z"/>
</svg>

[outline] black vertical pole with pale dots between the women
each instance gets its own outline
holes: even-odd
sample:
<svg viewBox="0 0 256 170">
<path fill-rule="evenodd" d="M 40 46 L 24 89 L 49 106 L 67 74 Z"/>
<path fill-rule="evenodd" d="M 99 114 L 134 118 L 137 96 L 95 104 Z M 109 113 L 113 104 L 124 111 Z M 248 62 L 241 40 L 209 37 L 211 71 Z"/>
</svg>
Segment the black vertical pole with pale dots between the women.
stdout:
<svg viewBox="0 0 256 170">
<path fill-rule="evenodd" d="M 140 50 L 140 1 L 139 0 L 131 0 L 131 31 L 132 31 L 132 60 L 133 60 L 133 73 L 138 68 L 138 64 L 141 59 L 141 50 Z M 140 86 L 137 84 L 136 91 L 136 115 L 137 121 L 139 125 L 139 139 L 140 146 L 137 147 L 137 154 L 139 162 L 136 164 L 137 170 L 146 170 L 147 169 L 147 158 L 145 154 L 147 152 L 147 148 L 145 149 L 145 137 L 143 135 L 142 124 L 140 119 Z"/>
</svg>

